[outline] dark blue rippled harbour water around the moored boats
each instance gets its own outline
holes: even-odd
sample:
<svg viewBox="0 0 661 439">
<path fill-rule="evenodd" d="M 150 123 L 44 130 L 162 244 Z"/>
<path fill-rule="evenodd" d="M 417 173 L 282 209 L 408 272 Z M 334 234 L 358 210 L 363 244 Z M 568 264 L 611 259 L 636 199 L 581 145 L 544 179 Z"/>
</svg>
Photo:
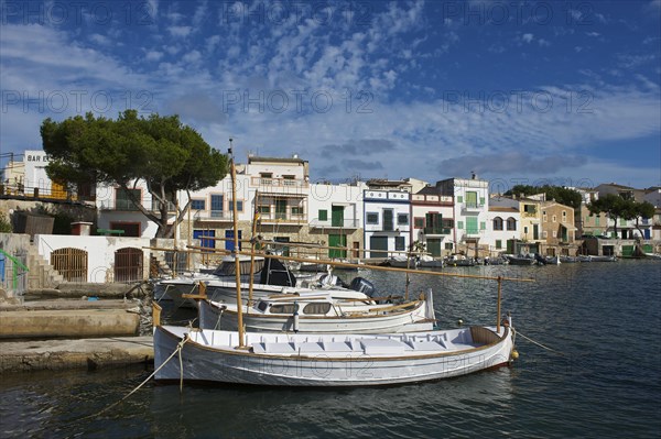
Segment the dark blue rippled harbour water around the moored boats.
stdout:
<svg viewBox="0 0 661 439">
<path fill-rule="evenodd" d="M 100 416 L 151 370 L 2 375 L 0 437 L 661 437 L 661 263 L 445 272 L 537 279 L 505 284 L 503 310 L 521 334 L 561 353 L 519 337 L 511 367 L 387 388 L 185 385 L 180 394 L 149 382 Z M 382 293 L 404 290 L 400 274 L 360 275 Z M 495 322 L 494 282 L 411 276 L 411 294 L 430 287 L 442 326 Z"/>
</svg>

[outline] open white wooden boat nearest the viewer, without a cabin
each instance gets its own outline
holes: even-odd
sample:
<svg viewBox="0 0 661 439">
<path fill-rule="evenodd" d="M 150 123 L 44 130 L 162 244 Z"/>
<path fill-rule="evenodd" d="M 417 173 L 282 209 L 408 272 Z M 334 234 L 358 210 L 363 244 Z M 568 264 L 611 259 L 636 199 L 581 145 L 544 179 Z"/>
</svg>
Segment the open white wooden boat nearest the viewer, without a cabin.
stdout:
<svg viewBox="0 0 661 439">
<path fill-rule="evenodd" d="M 510 326 L 399 334 L 247 332 L 241 343 L 236 331 L 158 326 L 155 380 L 319 387 L 415 383 L 508 364 L 512 332 Z"/>
</svg>

